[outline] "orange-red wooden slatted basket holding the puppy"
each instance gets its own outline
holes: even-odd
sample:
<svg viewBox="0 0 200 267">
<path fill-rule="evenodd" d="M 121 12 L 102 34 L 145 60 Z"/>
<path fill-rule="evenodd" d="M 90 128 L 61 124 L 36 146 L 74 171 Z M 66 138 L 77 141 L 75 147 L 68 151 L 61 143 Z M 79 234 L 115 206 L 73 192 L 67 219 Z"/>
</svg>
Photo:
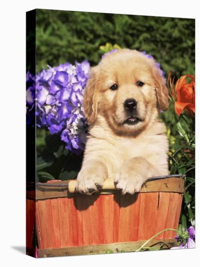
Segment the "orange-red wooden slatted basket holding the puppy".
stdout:
<svg viewBox="0 0 200 267">
<path fill-rule="evenodd" d="M 134 251 L 159 231 L 178 228 L 183 193 L 180 177 L 149 181 L 139 193 L 124 196 L 108 189 L 91 196 L 70 193 L 68 181 L 38 184 L 38 256 Z M 163 240 L 174 246 L 175 235 L 167 231 L 148 246 Z"/>
</svg>

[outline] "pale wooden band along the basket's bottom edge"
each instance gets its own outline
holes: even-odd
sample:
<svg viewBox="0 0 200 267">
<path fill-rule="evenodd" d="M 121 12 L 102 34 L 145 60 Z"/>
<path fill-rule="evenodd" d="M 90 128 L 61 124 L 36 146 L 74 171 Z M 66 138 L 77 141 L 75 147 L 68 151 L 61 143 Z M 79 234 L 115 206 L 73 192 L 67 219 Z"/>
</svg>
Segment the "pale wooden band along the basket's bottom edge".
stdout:
<svg viewBox="0 0 200 267">
<path fill-rule="evenodd" d="M 83 247 L 71 247 L 71 248 L 62 248 L 62 249 L 39 249 L 38 257 L 58 257 L 58 256 L 74 256 L 74 255 L 94 255 L 94 254 L 103 254 L 106 253 L 106 250 L 113 250 L 114 253 L 118 253 L 121 250 L 125 252 L 135 251 L 143 245 L 146 240 L 143 241 L 134 241 L 134 242 L 124 242 L 124 243 L 113 243 L 105 245 L 93 245 L 93 246 L 83 246 Z M 176 246 L 174 239 L 162 239 L 151 240 L 148 243 L 148 246 L 158 248 L 163 242 L 167 243 L 169 247 Z M 164 246 L 164 248 L 168 248 Z"/>
</svg>

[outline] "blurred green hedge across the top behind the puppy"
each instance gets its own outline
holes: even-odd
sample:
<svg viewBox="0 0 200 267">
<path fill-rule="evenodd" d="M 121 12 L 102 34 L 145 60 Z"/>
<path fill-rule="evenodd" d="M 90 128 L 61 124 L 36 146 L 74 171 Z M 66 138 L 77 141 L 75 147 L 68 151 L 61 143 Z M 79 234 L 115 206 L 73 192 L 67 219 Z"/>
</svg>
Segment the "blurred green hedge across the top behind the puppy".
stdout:
<svg viewBox="0 0 200 267">
<path fill-rule="evenodd" d="M 110 42 L 145 50 L 166 73 L 194 75 L 194 19 L 37 9 L 36 25 L 37 72 L 75 60 L 96 65 Z"/>
</svg>

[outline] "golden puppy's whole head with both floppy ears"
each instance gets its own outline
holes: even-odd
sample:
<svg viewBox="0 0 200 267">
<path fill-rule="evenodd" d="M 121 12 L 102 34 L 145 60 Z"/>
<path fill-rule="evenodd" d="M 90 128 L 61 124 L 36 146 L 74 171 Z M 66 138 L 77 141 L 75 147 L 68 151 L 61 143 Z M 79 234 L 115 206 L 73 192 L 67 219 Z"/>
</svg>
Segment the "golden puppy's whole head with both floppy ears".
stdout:
<svg viewBox="0 0 200 267">
<path fill-rule="evenodd" d="M 91 69 L 83 108 L 89 124 L 103 116 L 118 134 L 136 134 L 166 110 L 165 79 L 154 60 L 136 50 L 121 49 Z"/>
</svg>

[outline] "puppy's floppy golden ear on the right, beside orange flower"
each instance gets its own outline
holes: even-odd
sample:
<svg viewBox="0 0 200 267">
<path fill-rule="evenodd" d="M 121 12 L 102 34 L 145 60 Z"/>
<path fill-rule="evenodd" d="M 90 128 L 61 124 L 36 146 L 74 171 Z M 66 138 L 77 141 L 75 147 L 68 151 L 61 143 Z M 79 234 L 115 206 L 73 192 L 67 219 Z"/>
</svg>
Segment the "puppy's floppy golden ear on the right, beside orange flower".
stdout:
<svg viewBox="0 0 200 267">
<path fill-rule="evenodd" d="M 162 76 L 161 70 L 157 67 L 154 69 L 153 76 L 155 81 L 155 89 L 156 89 L 159 109 L 166 111 L 169 105 L 166 80 Z"/>
</svg>

